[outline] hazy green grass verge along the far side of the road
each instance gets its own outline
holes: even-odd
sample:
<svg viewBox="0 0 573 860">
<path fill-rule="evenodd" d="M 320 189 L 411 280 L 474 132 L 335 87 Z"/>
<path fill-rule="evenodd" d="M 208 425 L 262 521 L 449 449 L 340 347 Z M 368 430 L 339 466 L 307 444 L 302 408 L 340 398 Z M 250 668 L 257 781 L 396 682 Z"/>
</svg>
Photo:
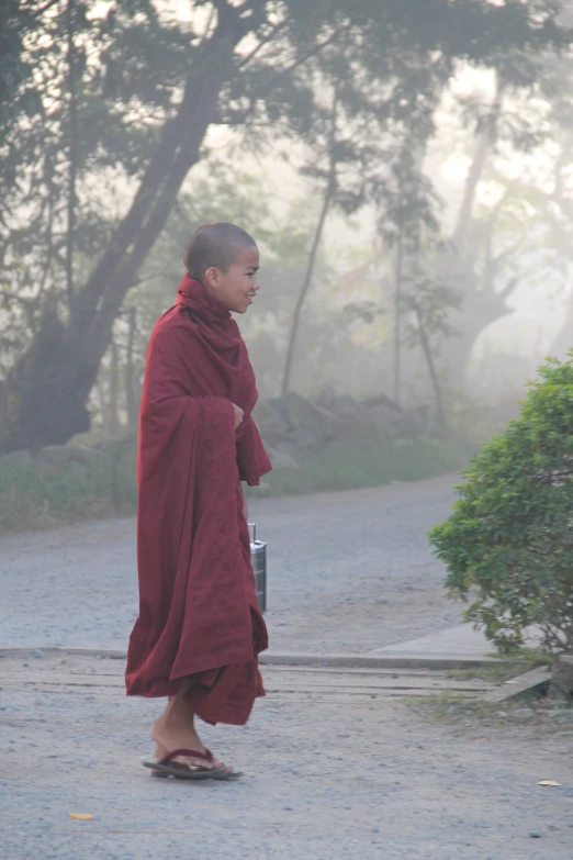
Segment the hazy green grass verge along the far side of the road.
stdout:
<svg viewBox="0 0 573 860">
<path fill-rule="evenodd" d="M 82 445 L 89 439 L 81 439 Z M 458 473 L 478 450 L 474 435 L 359 445 L 336 443 L 274 469 L 249 498 L 380 487 Z M 66 468 L 43 468 L 33 458 L 4 459 L 0 469 L 0 534 L 50 528 L 82 520 L 131 516 L 137 504 L 136 443 L 109 445 L 102 456 Z M 452 479 L 453 480 L 453 479 Z"/>
</svg>

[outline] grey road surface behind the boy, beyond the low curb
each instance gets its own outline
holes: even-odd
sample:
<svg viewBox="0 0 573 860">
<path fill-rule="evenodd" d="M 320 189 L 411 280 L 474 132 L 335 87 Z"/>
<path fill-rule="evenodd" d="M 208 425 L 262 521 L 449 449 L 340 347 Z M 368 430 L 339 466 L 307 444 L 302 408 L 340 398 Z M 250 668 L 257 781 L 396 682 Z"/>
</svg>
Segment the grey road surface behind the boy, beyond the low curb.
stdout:
<svg viewBox="0 0 573 860">
<path fill-rule="evenodd" d="M 271 647 L 368 651 L 460 623 L 426 530 L 453 478 L 255 500 L 269 541 Z M 124 648 L 137 612 L 135 523 L 0 539 L 0 644 Z"/>
</svg>

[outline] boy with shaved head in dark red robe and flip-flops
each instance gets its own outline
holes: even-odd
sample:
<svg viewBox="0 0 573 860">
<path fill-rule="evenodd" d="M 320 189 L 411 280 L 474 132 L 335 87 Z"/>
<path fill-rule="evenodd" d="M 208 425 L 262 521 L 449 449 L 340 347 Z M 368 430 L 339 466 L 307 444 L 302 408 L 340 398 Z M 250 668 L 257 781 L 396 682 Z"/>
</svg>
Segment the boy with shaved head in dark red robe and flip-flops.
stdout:
<svg viewBox="0 0 573 860">
<path fill-rule="evenodd" d="M 268 646 L 250 563 L 240 481 L 271 465 L 251 417 L 247 348 L 231 314 L 259 290 L 259 253 L 233 224 L 206 224 L 184 254 L 177 302 L 149 343 L 139 414 L 139 617 L 130 638 L 127 695 L 167 696 L 151 727 L 153 775 L 231 779 L 205 749 L 195 716 L 244 725 L 265 695 Z"/>
</svg>

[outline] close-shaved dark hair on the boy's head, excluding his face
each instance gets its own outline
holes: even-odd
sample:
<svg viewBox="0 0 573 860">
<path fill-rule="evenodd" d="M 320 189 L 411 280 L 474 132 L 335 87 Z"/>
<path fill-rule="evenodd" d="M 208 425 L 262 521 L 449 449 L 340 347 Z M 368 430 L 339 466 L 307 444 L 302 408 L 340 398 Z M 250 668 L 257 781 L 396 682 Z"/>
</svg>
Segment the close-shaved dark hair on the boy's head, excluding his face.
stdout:
<svg viewBox="0 0 573 860">
<path fill-rule="evenodd" d="M 227 272 L 240 250 L 249 247 L 257 247 L 255 239 L 235 224 L 204 224 L 189 239 L 183 263 L 190 277 L 202 281 L 211 267 Z"/>
</svg>

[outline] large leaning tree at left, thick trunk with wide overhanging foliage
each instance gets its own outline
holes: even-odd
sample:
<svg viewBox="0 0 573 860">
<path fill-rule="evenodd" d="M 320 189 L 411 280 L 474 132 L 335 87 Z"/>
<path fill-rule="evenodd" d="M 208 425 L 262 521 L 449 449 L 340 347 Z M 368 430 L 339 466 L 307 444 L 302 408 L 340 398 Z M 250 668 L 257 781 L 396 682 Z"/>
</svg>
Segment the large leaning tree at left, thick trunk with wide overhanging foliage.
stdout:
<svg viewBox="0 0 573 860">
<path fill-rule="evenodd" d="M 324 85 L 339 80 L 349 112 L 357 96 L 368 101 L 374 90 L 380 108 L 383 92 L 390 94 L 381 127 L 401 112 L 431 122 L 428 71 L 446 80 L 464 59 L 503 67 L 506 79 L 524 82 L 523 63 L 512 65 L 516 49 L 539 54 L 566 42 L 551 0 L 195 0 L 193 29 L 166 21 L 151 0 L 112 5 L 103 18 L 89 0 L 25 5 L 34 23 L 19 43 L 20 57 L 38 75 L 22 78 L 19 98 L 30 89 L 41 98 L 35 115 L 26 123 L 15 118 L 2 138 L 9 158 L 0 191 L 19 223 L 3 225 L 0 253 L 9 278 L 20 288 L 22 279 L 29 283 L 35 333 L 5 380 L 0 450 L 61 443 L 88 429 L 86 404 L 114 320 L 213 123 L 236 126 L 252 146 L 305 136 Z M 311 60 L 318 76 L 308 74 Z M 70 148 L 61 147 L 71 104 L 81 135 L 74 196 Z M 133 189 L 132 202 L 120 216 L 109 211 L 102 219 L 90 188 L 117 179 Z M 63 260 L 66 210 L 74 254 Z M 34 246 L 37 235 L 42 253 L 24 255 L 23 272 L 14 242 Z M 81 254 L 82 243 L 92 254 Z M 61 277 L 66 258 L 69 281 Z M 74 275 L 71 295 L 66 283 Z"/>
</svg>

